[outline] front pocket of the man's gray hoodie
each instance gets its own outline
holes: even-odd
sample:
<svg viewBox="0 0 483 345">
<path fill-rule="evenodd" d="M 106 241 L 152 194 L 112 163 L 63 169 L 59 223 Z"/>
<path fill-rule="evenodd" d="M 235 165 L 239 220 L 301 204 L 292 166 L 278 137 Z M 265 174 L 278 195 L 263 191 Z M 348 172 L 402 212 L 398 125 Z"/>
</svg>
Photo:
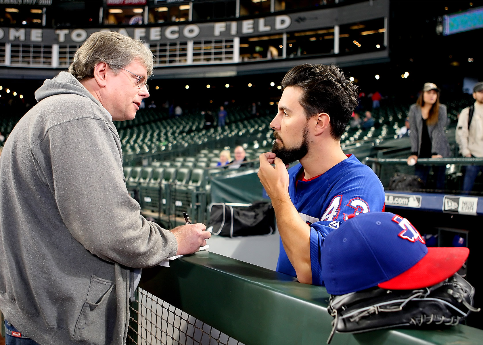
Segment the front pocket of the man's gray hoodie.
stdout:
<svg viewBox="0 0 483 345">
<path fill-rule="evenodd" d="M 92 275 L 72 340 L 91 345 L 109 344 L 113 339 L 115 319 L 114 282 Z"/>
</svg>

